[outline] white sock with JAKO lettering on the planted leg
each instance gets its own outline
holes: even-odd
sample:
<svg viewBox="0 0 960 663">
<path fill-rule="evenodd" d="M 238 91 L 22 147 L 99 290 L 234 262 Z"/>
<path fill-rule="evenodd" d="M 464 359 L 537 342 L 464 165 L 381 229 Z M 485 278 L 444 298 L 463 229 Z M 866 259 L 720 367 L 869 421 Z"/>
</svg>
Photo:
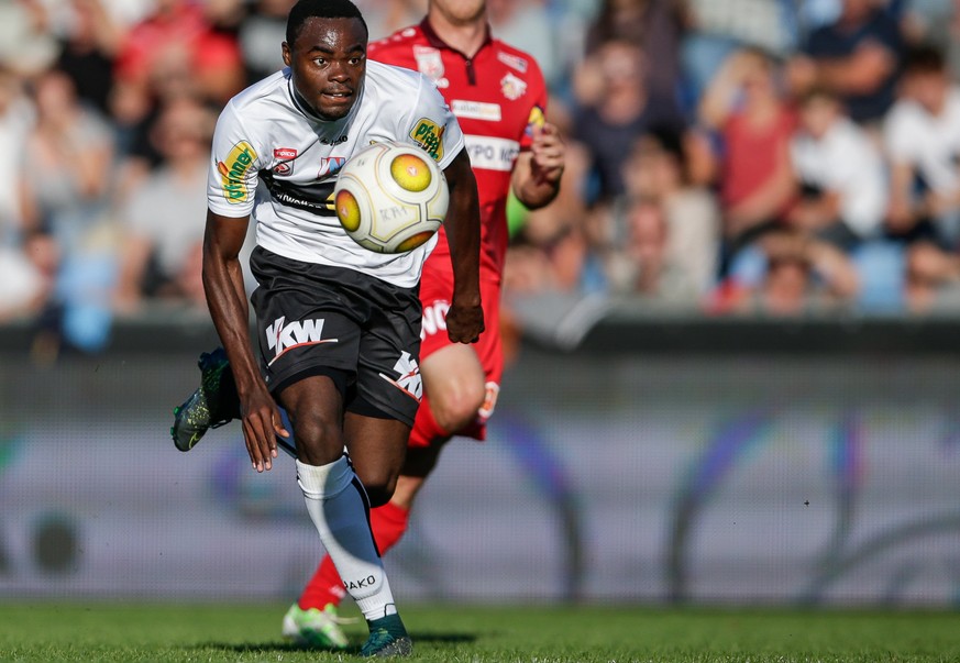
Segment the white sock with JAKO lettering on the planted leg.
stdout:
<svg viewBox="0 0 960 663">
<path fill-rule="evenodd" d="M 366 491 L 346 456 L 319 467 L 297 461 L 297 483 L 320 541 L 363 616 L 371 620 L 396 614 L 369 529 Z"/>
</svg>

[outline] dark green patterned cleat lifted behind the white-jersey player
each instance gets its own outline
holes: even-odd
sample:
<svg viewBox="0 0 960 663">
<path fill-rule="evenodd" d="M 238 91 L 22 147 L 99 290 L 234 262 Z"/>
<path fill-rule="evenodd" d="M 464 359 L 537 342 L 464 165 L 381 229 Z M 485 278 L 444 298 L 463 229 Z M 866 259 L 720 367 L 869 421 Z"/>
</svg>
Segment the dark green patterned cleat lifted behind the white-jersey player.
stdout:
<svg viewBox="0 0 960 663">
<path fill-rule="evenodd" d="M 170 437 L 180 451 L 190 451 L 209 429 L 240 416 L 233 373 L 223 349 L 202 353 L 197 366 L 200 368 L 200 387 L 174 408 Z"/>
</svg>

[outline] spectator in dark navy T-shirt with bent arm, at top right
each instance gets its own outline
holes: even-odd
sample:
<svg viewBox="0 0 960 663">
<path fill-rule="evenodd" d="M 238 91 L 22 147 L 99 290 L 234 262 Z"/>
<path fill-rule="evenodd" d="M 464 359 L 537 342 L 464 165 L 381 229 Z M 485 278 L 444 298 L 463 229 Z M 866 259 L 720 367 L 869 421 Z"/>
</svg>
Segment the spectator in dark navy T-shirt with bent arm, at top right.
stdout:
<svg viewBox="0 0 960 663">
<path fill-rule="evenodd" d="M 893 103 L 902 56 L 900 26 L 878 0 L 843 0 L 836 22 L 815 30 L 791 62 L 790 81 L 797 96 L 830 90 L 853 121 L 874 123 Z"/>
</svg>

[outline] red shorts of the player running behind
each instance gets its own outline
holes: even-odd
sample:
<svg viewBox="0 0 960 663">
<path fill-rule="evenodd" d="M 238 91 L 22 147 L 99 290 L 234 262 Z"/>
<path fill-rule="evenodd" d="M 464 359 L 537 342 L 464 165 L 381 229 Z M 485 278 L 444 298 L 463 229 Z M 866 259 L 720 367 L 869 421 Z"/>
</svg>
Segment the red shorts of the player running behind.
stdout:
<svg viewBox="0 0 960 663">
<path fill-rule="evenodd" d="M 420 279 L 420 302 L 423 305 L 423 325 L 420 331 L 420 361 L 451 345 L 446 335 L 446 311 L 453 297 L 453 273 L 444 265 L 437 268 L 432 261 L 423 265 Z M 486 439 L 486 422 L 497 405 L 500 393 L 500 377 L 504 375 L 504 347 L 500 343 L 500 283 L 498 278 L 481 270 L 481 299 L 484 309 L 484 333 L 472 345 L 486 375 L 486 398 L 477 412 L 474 423 L 457 435 Z M 429 394 L 428 394 L 429 397 Z M 429 402 L 429 400 L 428 400 Z"/>
</svg>

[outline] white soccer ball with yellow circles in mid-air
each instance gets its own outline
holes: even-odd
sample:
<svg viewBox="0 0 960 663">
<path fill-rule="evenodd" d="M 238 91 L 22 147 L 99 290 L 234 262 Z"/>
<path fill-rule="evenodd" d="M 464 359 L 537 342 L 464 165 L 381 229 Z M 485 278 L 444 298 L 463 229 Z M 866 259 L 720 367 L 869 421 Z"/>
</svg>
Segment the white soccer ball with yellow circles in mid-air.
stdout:
<svg viewBox="0 0 960 663">
<path fill-rule="evenodd" d="M 426 152 L 385 142 L 344 164 L 333 200 L 354 242 L 377 253 L 406 253 L 438 231 L 450 192 L 443 172 Z"/>
</svg>

